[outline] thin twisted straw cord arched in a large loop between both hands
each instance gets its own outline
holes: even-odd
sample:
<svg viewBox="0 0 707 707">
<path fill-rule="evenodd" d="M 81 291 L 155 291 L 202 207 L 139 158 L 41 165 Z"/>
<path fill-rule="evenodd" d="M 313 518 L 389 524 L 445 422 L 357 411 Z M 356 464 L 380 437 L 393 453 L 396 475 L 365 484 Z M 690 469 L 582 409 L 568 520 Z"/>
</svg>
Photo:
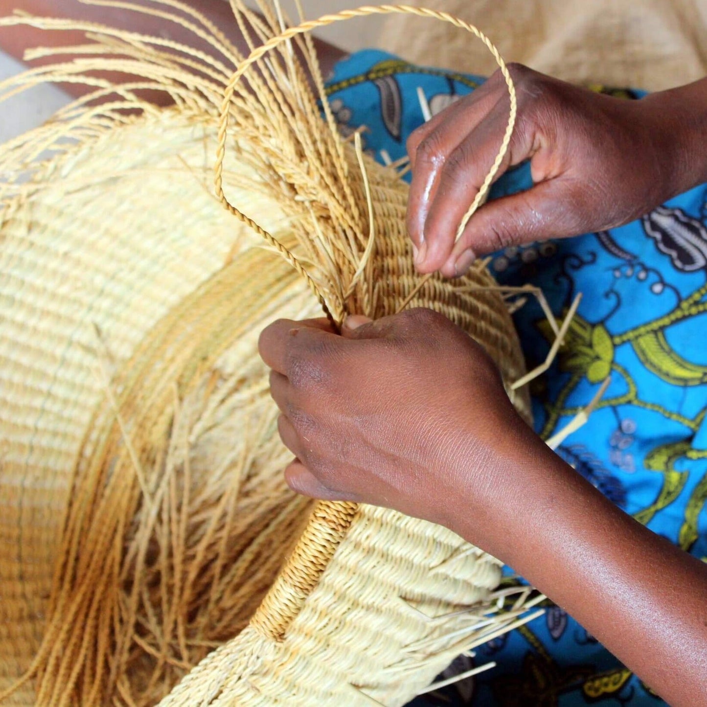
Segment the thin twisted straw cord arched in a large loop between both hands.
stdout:
<svg viewBox="0 0 707 707">
<path fill-rule="evenodd" d="M 506 86 L 508 86 L 508 95 L 510 97 L 510 113 L 508 116 L 508 125 L 506 127 L 506 132 L 503 135 L 503 141 L 501 142 L 501 147 L 498 150 L 498 155 L 493 161 L 493 165 L 491 165 L 491 170 L 489 170 L 489 173 L 486 175 L 486 178 L 484 179 L 484 182 L 481 185 L 477 196 L 474 198 L 474 201 L 472 201 L 472 204 L 471 206 L 469 206 L 469 209 L 467 210 L 466 214 L 464 214 L 459 228 L 457 228 L 457 233 L 455 235 L 456 243 L 457 240 L 460 239 L 462 233 L 464 232 L 464 229 L 467 227 L 469 219 L 472 218 L 474 213 L 476 213 L 477 209 L 479 209 L 479 206 L 483 203 L 484 199 L 486 198 L 486 194 L 488 194 L 489 189 L 491 189 L 493 179 L 496 177 L 496 174 L 498 174 L 499 168 L 501 168 L 501 162 L 503 161 L 503 158 L 508 152 L 508 146 L 510 145 L 510 138 L 513 135 L 513 129 L 515 127 L 515 118 L 518 112 L 518 102 L 515 95 L 515 85 L 513 84 L 513 78 L 511 78 L 510 76 L 510 71 L 508 71 L 508 66 L 506 66 L 506 62 L 503 61 L 503 59 L 501 58 L 501 54 L 498 53 L 498 49 L 496 49 L 496 47 L 493 45 L 493 42 L 489 40 L 489 37 L 486 37 L 486 35 L 474 25 L 465 22 L 464 20 L 458 17 L 450 15 L 450 13 L 430 10 L 428 8 L 413 7 L 409 5 L 362 6 L 351 10 L 343 10 L 333 15 L 324 15 L 317 20 L 309 20 L 298 25 L 297 27 L 287 28 L 283 33 L 277 35 L 276 37 L 271 37 L 269 40 L 267 40 L 267 42 L 264 43 L 264 45 L 253 49 L 253 51 L 250 53 L 250 56 L 247 57 L 244 62 L 241 62 L 240 66 L 238 66 L 238 69 L 230 78 L 228 86 L 226 86 L 226 90 L 223 95 L 223 103 L 221 105 L 221 117 L 219 119 L 218 124 L 218 151 L 216 153 L 216 196 L 221 201 L 221 204 L 223 204 L 223 206 L 228 209 L 228 211 L 230 211 L 233 216 L 240 218 L 241 221 L 244 221 L 249 226 L 254 228 L 257 233 L 259 233 L 259 235 L 262 235 L 262 237 L 265 238 L 265 240 L 267 240 L 270 245 L 275 247 L 276 250 L 278 250 L 278 252 L 280 252 L 281 255 L 283 255 L 286 260 L 296 269 L 296 271 L 305 278 L 312 292 L 315 294 L 320 303 L 322 303 L 322 307 L 327 313 L 327 317 L 329 317 L 329 320 L 331 320 L 332 322 L 333 317 L 329 312 L 327 305 L 325 304 L 324 296 L 322 295 L 320 289 L 317 287 L 315 281 L 312 280 L 311 276 L 308 274 L 302 264 L 300 264 L 298 259 L 286 247 L 278 243 L 275 238 L 273 238 L 269 233 L 267 233 L 266 230 L 258 226 L 255 221 L 252 221 L 251 218 L 245 216 L 245 214 L 243 214 L 243 212 L 239 209 L 236 209 L 236 207 L 233 206 L 230 201 L 228 201 L 226 194 L 223 192 L 223 162 L 226 159 L 226 133 L 228 132 L 229 107 L 231 100 L 233 100 L 235 87 L 238 85 L 238 82 L 240 81 L 240 78 L 243 76 L 243 74 L 245 74 L 245 72 L 250 68 L 250 66 L 252 66 L 252 64 L 255 64 L 255 62 L 257 62 L 259 59 L 262 59 L 265 54 L 270 52 L 271 49 L 274 49 L 275 47 L 281 45 L 283 42 L 290 40 L 292 37 L 296 37 L 296 35 L 308 33 L 312 30 L 321 27 L 326 27 L 327 25 L 331 25 L 335 22 L 341 22 L 356 17 L 365 17 L 368 15 L 385 15 L 392 13 L 410 14 L 417 15 L 419 17 L 433 18 L 436 20 L 450 23 L 455 27 L 467 30 L 467 32 L 472 33 L 473 35 L 478 37 L 481 42 L 484 42 L 484 45 L 486 45 L 486 47 L 489 49 L 489 52 L 493 54 L 493 58 L 496 59 L 496 63 L 501 69 L 501 74 L 503 75 L 503 78 L 506 81 Z"/>
</svg>

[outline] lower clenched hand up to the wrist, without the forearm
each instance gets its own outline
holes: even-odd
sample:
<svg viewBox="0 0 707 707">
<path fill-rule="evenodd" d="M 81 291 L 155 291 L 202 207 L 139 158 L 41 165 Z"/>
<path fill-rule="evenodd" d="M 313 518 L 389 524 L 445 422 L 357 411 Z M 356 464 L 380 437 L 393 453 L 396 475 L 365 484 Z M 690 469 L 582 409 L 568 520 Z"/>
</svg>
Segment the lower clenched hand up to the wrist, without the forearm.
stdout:
<svg viewBox="0 0 707 707">
<path fill-rule="evenodd" d="M 471 516 L 474 542 L 503 551 L 484 526 L 500 533 L 489 521 L 509 511 L 509 493 L 534 482 L 504 471 L 522 469 L 528 448 L 547 448 L 462 329 L 424 309 L 377 322 L 350 317 L 343 336 L 325 320 L 281 320 L 262 333 L 260 351 L 273 369 L 281 437 L 297 457 L 286 471 L 293 489 L 458 532 Z"/>
</svg>

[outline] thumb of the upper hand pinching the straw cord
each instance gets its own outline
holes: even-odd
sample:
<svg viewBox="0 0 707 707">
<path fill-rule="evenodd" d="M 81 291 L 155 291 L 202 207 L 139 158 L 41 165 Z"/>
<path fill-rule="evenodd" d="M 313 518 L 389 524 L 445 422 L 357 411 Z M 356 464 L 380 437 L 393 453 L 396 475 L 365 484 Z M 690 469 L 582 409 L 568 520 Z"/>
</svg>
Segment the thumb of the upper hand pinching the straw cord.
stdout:
<svg viewBox="0 0 707 707">
<path fill-rule="evenodd" d="M 577 201 L 559 179 L 540 182 L 527 192 L 488 201 L 469 220 L 440 269 L 442 274 L 463 275 L 477 257 L 512 245 L 583 233 L 583 217 Z"/>
</svg>

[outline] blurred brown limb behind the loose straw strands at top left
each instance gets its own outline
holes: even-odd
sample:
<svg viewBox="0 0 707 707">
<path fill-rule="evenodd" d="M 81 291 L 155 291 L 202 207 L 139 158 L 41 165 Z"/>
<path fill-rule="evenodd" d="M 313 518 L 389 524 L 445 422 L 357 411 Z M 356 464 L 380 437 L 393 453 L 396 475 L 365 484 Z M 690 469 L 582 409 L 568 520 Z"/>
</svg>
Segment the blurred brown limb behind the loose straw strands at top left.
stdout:
<svg viewBox="0 0 707 707">
<path fill-rule="evenodd" d="M 141 3 L 138 1 L 136 4 Z M 147 6 L 145 3 L 142 4 Z M 218 30 L 223 35 L 226 35 L 226 38 L 240 54 L 243 56 L 250 54 L 245 37 L 240 33 L 228 2 L 223 0 L 191 0 L 189 5 L 216 25 Z M 154 4 L 152 4 L 151 8 L 158 11 L 170 11 L 170 8 L 166 6 L 155 6 Z M 212 54 L 215 51 L 209 42 L 205 42 L 182 25 L 173 23 L 165 18 L 122 8 L 84 5 L 78 0 L 0 0 L 0 16 L 9 15 L 15 10 L 37 16 L 110 25 L 144 35 L 160 36 Z M 31 27 L 0 30 L 0 49 L 18 59 L 23 59 L 25 51 L 33 47 L 71 47 L 82 44 L 86 44 L 86 37 L 82 32 L 64 30 L 49 32 Z M 341 59 L 344 52 L 321 40 L 315 40 L 315 46 L 320 58 L 322 72 L 326 76 L 334 64 Z M 223 59 L 223 57 L 218 58 Z M 31 66 L 40 66 L 54 61 L 56 61 L 56 57 L 45 57 L 28 63 Z M 115 75 L 110 78 L 118 82 L 129 81 L 129 76 L 124 75 Z M 78 83 L 67 84 L 64 88 L 74 96 L 83 95 L 89 90 L 88 87 L 81 86 Z M 155 94 L 151 95 L 151 98 L 156 100 L 156 102 L 163 103 L 168 96 L 166 94 Z"/>
</svg>

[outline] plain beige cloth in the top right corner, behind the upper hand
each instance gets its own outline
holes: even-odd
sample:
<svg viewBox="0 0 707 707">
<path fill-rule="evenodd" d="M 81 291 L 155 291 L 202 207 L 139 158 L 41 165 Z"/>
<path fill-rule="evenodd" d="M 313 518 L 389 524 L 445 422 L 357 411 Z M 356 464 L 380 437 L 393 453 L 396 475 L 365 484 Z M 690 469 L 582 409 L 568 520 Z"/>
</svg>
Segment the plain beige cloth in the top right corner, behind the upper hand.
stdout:
<svg viewBox="0 0 707 707">
<path fill-rule="evenodd" d="M 707 0 L 423 0 L 484 28 L 508 62 L 574 83 L 660 90 L 707 74 Z M 386 18 L 380 47 L 411 62 L 491 74 L 483 45 L 449 25 Z"/>
</svg>

